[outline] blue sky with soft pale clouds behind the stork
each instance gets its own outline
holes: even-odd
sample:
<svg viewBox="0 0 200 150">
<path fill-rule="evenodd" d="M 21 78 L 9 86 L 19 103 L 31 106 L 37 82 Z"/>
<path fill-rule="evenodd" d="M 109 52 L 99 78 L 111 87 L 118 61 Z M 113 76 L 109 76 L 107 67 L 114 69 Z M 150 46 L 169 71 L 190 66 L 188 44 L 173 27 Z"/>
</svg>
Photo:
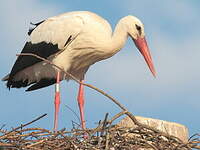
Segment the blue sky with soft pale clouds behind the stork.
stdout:
<svg viewBox="0 0 200 150">
<path fill-rule="evenodd" d="M 74 10 L 93 11 L 107 19 L 114 28 L 126 15 L 139 17 L 145 25 L 147 41 L 157 70 L 153 78 L 142 56 L 129 39 L 114 57 L 93 65 L 87 83 L 103 89 L 135 115 L 157 118 L 186 125 L 190 134 L 200 132 L 200 5 L 198 0 L 3 0 L 0 5 L 1 52 L 0 77 L 11 69 L 16 54 L 27 40 L 30 22 L 41 21 Z M 71 128 L 77 113 L 78 85 L 62 82 L 59 128 Z M 0 84 L 0 126 L 7 128 L 48 116 L 32 126 L 51 129 L 54 113 L 54 86 L 33 92 L 9 91 Z M 120 111 L 110 100 L 86 88 L 85 115 L 88 127 Z"/>
</svg>

